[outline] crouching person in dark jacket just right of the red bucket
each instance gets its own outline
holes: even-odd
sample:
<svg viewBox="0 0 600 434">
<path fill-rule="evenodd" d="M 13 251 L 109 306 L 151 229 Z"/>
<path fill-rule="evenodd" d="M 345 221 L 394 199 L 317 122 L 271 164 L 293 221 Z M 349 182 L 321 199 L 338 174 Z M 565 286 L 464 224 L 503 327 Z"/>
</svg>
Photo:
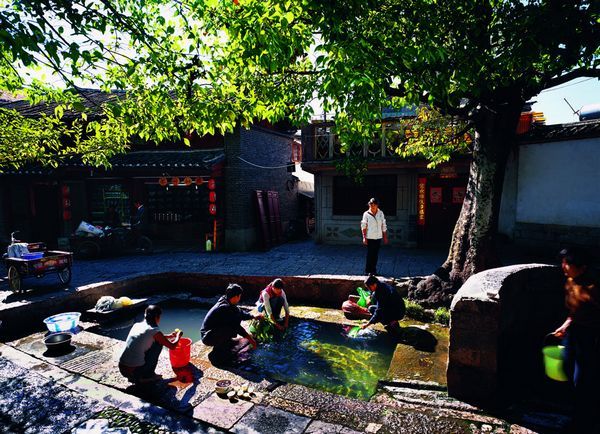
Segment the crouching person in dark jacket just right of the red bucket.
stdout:
<svg viewBox="0 0 600 434">
<path fill-rule="evenodd" d="M 209 358 L 213 363 L 226 363 L 233 357 L 235 338 L 239 335 L 248 340 L 252 348 L 256 348 L 254 337 L 248 333 L 241 322 L 249 319 L 261 319 L 263 315 L 253 316 L 241 310 L 237 305 L 242 298 L 243 289 L 235 283 L 230 284 L 217 303 L 208 311 L 200 337 L 204 345 L 213 347 Z"/>
</svg>

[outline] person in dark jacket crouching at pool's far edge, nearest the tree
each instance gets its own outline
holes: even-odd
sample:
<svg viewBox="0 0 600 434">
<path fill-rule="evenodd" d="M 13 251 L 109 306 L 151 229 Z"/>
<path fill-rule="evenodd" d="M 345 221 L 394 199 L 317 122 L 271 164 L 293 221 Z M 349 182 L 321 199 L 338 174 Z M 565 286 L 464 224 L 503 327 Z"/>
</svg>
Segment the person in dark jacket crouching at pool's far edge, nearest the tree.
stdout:
<svg viewBox="0 0 600 434">
<path fill-rule="evenodd" d="M 370 275 L 365 280 L 365 286 L 371 291 L 369 311 L 371 319 L 361 326 L 366 329 L 371 324 L 382 323 L 388 332 L 397 332 L 400 329 L 398 321 L 404 318 L 406 306 L 404 299 L 396 289 L 383 283 L 377 277 Z"/>
</svg>

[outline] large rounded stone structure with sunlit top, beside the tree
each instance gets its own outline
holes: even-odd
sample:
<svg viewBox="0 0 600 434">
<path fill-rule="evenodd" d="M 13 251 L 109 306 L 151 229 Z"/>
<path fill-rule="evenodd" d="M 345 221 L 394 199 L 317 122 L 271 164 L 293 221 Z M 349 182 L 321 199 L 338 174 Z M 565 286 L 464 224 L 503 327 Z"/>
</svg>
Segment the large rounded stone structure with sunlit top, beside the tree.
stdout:
<svg viewBox="0 0 600 434">
<path fill-rule="evenodd" d="M 544 337 L 566 318 L 558 267 L 514 265 L 471 276 L 451 306 L 448 393 L 505 405 L 552 390 L 544 377 Z"/>
</svg>

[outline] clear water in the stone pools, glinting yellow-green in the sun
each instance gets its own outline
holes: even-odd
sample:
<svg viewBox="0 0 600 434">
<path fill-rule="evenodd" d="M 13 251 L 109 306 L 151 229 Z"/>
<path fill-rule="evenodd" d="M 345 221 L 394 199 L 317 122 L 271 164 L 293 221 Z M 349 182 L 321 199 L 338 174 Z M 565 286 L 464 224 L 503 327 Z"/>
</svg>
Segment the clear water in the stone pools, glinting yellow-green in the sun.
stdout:
<svg viewBox="0 0 600 434">
<path fill-rule="evenodd" d="M 192 341 L 200 340 L 200 327 L 208 309 L 196 306 L 161 304 L 161 330 L 170 333 L 179 328 Z M 102 326 L 96 333 L 124 341 L 131 326 L 142 319 L 143 314 L 139 314 Z M 395 344 L 385 334 L 366 330 L 349 338 L 348 331 L 349 327 L 338 324 L 292 320 L 282 338 L 260 344 L 242 368 L 288 383 L 369 399 L 377 381 L 387 374 Z"/>
</svg>

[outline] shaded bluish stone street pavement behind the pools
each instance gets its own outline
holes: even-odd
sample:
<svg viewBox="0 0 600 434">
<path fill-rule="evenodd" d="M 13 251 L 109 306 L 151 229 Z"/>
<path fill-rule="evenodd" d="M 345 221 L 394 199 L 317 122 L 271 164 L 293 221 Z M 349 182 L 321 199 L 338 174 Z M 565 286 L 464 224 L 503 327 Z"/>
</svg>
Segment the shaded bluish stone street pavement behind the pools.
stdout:
<svg viewBox="0 0 600 434">
<path fill-rule="evenodd" d="M 431 274 L 446 258 L 447 250 L 406 249 L 384 246 L 379 255 L 379 272 L 384 277 Z M 266 252 L 222 253 L 169 251 L 150 255 L 75 259 L 71 287 L 122 278 L 134 274 L 167 271 L 247 276 L 362 275 L 366 248 L 315 244 L 312 240 L 287 243 Z M 58 285 L 54 274 L 24 280 L 24 288 Z M 50 289 L 50 288 L 49 288 Z M 8 290 L 6 282 L 0 291 Z"/>
</svg>

